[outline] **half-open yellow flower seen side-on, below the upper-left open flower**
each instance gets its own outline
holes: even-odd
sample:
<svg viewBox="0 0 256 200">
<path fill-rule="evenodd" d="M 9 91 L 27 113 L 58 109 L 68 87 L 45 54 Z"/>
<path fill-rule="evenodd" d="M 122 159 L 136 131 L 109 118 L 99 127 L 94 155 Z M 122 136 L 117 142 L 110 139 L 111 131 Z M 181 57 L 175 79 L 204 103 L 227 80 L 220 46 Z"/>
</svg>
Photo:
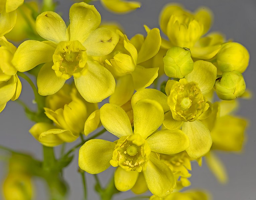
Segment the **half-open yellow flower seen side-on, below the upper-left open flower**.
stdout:
<svg viewBox="0 0 256 200">
<path fill-rule="evenodd" d="M 46 107 L 45 114 L 55 125 L 40 122 L 29 132 L 48 147 L 75 141 L 84 132 L 87 118 L 98 109 L 96 104 L 86 102 L 76 87 L 68 84 L 46 97 Z"/>
</svg>

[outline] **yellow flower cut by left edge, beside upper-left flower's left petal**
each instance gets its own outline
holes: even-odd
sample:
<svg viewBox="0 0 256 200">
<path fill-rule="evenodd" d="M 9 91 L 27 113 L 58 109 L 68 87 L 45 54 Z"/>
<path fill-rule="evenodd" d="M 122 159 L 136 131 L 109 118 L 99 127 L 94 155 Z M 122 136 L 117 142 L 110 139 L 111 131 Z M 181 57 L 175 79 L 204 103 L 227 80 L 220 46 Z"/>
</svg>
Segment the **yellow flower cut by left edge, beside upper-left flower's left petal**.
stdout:
<svg viewBox="0 0 256 200">
<path fill-rule="evenodd" d="M 11 63 L 16 47 L 4 36 L 0 37 L 0 113 L 10 100 L 16 100 L 21 92 L 17 69 Z"/>
</svg>

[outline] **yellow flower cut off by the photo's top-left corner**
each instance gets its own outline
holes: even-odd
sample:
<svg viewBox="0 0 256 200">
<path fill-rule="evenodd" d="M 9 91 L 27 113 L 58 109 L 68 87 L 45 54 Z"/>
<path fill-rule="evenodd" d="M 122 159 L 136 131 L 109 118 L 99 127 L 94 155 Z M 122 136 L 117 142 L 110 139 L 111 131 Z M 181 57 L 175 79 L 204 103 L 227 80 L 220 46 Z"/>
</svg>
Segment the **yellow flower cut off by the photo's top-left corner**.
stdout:
<svg viewBox="0 0 256 200">
<path fill-rule="evenodd" d="M 0 36 L 10 32 L 16 23 L 16 9 L 23 4 L 24 0 L 0 0 Z"/>
</svg>

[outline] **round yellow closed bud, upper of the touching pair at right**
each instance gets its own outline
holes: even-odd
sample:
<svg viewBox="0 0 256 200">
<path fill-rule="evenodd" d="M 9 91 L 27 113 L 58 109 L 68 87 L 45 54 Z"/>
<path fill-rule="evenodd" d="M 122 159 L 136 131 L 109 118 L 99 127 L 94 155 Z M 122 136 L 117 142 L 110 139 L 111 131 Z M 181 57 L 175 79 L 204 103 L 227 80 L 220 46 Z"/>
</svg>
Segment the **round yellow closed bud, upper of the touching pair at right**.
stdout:
<svg viewBox="0 0 256 200">
<path fill-rule="evenodd" d="M 237 42 L 223 44 L 217 54 L 218 68 L 222 72 L 238 71 L 243 73 L 249 64 L 249 52 Z"/>
</svg>

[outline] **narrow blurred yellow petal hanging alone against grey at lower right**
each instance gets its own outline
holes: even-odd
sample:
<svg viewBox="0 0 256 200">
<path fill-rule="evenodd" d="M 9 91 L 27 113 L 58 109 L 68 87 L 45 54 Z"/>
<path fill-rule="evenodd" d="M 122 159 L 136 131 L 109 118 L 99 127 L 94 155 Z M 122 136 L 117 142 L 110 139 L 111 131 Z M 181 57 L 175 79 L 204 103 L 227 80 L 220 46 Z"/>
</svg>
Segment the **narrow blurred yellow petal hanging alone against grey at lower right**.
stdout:
<svg viewBox="0 0 256 200">
<path fill-rule="evenodd" d="M 212 152 L 205 155 L 206 164 L 221 183 L 228 182 L 228 174 L 221 160 Z"/>
</svg>

